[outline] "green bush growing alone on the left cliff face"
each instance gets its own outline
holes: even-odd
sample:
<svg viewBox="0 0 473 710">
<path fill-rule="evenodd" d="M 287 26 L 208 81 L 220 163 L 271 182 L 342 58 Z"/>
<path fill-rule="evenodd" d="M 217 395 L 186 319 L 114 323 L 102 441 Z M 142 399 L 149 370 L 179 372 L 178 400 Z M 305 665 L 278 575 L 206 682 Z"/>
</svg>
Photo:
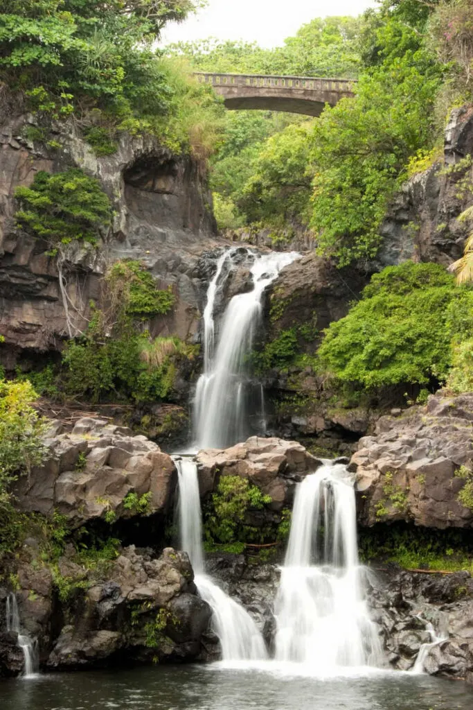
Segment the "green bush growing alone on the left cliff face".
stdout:
<svg viewBox="0 0 473 710">
<path fill-rule="evenodd" d="M 51 175 L 40 170 L 31 187 L 17 187 L 21 209 L 16 223 L 48 244 L 72 240 L 96 243 L 100 229 L 111 223 L 110 202 L 99 180 L 79 168 Z"/>
</svg>

